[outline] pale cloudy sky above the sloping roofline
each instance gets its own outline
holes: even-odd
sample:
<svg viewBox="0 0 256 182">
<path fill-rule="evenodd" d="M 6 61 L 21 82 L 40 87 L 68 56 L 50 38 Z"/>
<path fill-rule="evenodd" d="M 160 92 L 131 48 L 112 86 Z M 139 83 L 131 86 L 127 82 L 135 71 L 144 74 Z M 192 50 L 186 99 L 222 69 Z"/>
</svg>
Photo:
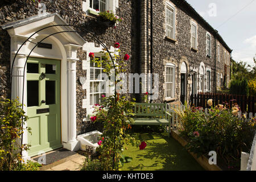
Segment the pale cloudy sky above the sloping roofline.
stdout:
<svg viewBox="0 0 256 182">
<path fill-rule="evenodd" d="M 187 0 L 233 49 L 232 58 L 254 66 L 256 0 Z"/>
</svg>

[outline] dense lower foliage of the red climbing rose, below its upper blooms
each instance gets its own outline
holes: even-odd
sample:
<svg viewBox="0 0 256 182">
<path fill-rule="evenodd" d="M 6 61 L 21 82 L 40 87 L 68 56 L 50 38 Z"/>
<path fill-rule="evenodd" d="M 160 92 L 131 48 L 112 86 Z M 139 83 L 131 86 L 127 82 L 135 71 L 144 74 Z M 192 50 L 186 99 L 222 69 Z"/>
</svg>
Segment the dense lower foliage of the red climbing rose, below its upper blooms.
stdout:
<svg viewBox="0 0 256 182">
<path fill-rule="evenodd" d="M 102 131 L 102 143 L 97 148 L 100 152 L 100 160 L 104 170 L 118 170 L 122 166 L 122 151 L 127 143 L 137 144 L 135 137 L 127 134 L 126 130 L 131 126 L 126 121 L 133 122 L 131 118 L 133 114 L 134 102 L 126 99 L 126 97 L 117 98 L 114 96 L 104 98 L 100 107 L 96 107 L 96 122 L 104 125 Z M 104 108 L 104 109 L 103 109 Z M 101 110 L 100 110 L 101 109 Z M 114 156 L 114 157 L 113 157 Z M 114 162 L 113 162 L 114 158 Z"/>
</svg>

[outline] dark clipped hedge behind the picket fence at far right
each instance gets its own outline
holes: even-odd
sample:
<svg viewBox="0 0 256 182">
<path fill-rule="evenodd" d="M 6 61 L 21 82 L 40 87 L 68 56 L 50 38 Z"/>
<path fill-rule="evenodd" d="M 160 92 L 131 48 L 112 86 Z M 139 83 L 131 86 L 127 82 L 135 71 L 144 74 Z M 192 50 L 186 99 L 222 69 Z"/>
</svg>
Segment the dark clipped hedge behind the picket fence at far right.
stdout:
<svg viewBox="0 0 256 182">
<path fill-rule="evenodd" d="M 240 80 L 232 80 L 230 82 L 230 94 L 237 94 L 237 95 L 249 95 L 249 85 L 246 78 L 242 78 Z"/>
</svg>

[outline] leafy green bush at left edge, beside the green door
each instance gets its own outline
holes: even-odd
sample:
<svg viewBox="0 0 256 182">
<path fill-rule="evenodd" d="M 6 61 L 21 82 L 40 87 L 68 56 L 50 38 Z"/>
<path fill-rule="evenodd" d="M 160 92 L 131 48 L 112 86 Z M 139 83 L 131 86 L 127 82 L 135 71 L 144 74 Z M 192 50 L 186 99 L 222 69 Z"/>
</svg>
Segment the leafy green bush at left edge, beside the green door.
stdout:
<svg viewBox="0 0 256 182">
<path fill-rule="evenodd" d="M 27 144 L 20 144 L 25 121 L 27 116 L 18 100 L 0 101 L 0 170 L 22 168 L 21 151 L 28 150 Z"/>
</svg>

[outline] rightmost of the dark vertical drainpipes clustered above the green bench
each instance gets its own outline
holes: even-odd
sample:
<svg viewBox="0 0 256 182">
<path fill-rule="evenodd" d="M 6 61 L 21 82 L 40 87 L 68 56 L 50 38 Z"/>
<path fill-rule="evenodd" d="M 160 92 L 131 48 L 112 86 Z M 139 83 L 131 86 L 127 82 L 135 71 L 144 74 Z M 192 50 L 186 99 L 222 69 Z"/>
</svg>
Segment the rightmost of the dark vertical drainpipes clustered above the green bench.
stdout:
<svg viewBox="0 0 256 182">
<path fill-rule="evenodd" d="M 150 73 L 153 74 L 153 1 L 150 0 Z M 153 76 L 153 75 L 152 75 Z M 151 81 L 151 93 L 153 83 Z M 150 100 L 150 103 L 152 100 Z"/>
</svg>

